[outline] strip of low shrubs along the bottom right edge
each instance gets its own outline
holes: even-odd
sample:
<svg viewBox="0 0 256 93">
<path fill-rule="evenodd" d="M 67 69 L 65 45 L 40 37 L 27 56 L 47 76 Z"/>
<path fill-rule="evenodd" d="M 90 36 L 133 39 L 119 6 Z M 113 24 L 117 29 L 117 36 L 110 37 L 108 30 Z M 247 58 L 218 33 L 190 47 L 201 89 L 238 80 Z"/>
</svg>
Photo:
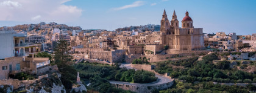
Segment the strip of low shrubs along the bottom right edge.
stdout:
<svg viewBox="0 0 256 93">
<path fill-rule="evenodd" d="M 175 82 L 174 85 L 165 91 L 160 91 L 160 93 L 179 93 L 179 92 L 249 92 L 255 91 L 256 86 L 254 85 L 247 85 L 246 87 L 243 86 L 227 86 L 227 85 L 219 85 L 214 84 L 213 82 L 201 82 L 201 83 L 183 83 L 183 82 Z"/>
</svg>

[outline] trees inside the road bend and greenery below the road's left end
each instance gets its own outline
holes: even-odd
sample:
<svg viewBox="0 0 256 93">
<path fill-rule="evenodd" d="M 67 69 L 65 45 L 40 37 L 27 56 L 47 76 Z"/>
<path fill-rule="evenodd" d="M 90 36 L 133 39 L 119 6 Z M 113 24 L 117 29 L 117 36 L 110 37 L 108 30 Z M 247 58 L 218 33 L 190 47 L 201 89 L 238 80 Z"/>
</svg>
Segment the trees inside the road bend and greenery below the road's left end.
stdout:
<svg viewBox="0 0 256 93">
<path fill-rule="evenodd" d="M 99 92 L 131 92 L 115 88 L 108 80 L 133 83 L 149 83 L 157 80 L 155 74 L 148 71 L 119 68 L 119 65 L 102 65 L 99 63 L 79 63 L 74 68 L 80 72 L 80 79 L 90 80 L 89 90 Z"/>
</svg>

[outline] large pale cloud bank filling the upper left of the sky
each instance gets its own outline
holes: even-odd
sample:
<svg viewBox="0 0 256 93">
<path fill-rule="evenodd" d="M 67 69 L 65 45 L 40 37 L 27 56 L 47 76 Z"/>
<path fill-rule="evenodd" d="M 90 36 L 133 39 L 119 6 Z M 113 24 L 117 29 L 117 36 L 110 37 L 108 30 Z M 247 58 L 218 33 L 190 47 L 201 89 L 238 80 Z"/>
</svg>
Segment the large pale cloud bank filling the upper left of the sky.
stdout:
<svg viewBox="0 0 256 93">
<path fill-rule="evenodd" d="M 82 16 L 82 9 L 65 5 L 71 0 L 0 1 L 0 21 L 73 22 Z"/>
</svg>

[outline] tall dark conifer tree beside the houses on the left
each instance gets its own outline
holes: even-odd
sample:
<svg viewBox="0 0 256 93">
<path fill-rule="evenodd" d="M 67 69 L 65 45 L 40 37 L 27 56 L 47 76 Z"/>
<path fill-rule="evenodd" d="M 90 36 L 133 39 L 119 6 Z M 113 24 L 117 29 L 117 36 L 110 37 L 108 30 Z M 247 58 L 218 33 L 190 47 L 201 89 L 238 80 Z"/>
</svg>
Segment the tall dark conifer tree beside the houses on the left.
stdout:
<svg viewBox="0 0 256 93">
<path fill-rule="evenodd" d="M 54 63 L 58 66 L 61 80 L 66 91 L 72 89 L 73 83 L 76 83 L 76 69 L 71 66 L 71 47 L 68 41 L 60 39 L 57 41 L 57 46 L 54 48 Z"/>
</svg>

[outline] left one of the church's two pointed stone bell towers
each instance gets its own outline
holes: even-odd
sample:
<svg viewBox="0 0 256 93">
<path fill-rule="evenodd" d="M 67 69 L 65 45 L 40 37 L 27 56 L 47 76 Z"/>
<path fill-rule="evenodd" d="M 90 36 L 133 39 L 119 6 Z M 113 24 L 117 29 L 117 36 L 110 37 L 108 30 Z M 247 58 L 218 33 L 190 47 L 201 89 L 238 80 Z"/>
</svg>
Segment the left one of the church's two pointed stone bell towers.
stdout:
<svg viewBox="0 0 256 93">
<path fill-rule="evenodd" d="M 164 10 L 163 11 L 163 17 L 162 17 L 162 20 L 161 20 L 161 29 L 160 29 L 161 34 L 166 34 L 166 32 L 169 30 L 169 27 L 170 27 L 170 23 L 169 23 L 169 20 L 167 18 L 167 14 Z"/>
</svg>

